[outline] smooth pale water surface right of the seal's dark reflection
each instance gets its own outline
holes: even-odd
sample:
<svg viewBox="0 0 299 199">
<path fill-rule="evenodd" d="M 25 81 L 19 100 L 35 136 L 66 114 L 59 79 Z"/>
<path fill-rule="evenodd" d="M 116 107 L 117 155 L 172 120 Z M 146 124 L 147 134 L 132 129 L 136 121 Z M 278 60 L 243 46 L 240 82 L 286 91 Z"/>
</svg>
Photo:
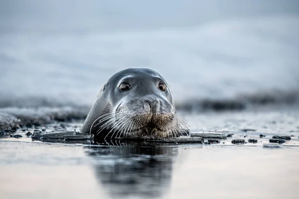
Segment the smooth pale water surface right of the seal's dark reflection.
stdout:
<svg viewBox="0 0 299 199">
<path fill-rule="evenodd" d="M 299 149 L 203 146 L 173 166 L 165 198 L 297 198 Z M 178 157 L 179 158 L 179 157 Z"/>
</svg>

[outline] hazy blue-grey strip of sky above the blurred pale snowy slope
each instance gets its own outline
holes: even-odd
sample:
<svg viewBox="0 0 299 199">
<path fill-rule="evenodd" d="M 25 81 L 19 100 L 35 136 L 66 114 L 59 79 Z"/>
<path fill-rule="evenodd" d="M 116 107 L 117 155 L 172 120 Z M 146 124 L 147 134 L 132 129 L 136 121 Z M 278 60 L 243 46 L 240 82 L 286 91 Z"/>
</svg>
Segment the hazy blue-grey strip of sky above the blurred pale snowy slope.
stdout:
<svg viewBox="0 0 299 199">
<path fill-rule="evenodd" d="M 298 15 L 297 0 L 2 0 L 0 30 L 88 33 L 198 26 L 227 18 Z M 55 32 L 51 32 L 55 31 Z"/>
</svg>

